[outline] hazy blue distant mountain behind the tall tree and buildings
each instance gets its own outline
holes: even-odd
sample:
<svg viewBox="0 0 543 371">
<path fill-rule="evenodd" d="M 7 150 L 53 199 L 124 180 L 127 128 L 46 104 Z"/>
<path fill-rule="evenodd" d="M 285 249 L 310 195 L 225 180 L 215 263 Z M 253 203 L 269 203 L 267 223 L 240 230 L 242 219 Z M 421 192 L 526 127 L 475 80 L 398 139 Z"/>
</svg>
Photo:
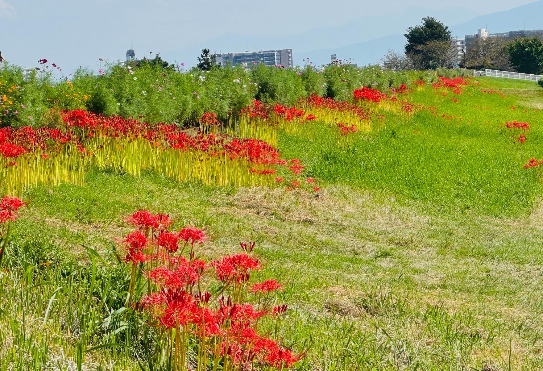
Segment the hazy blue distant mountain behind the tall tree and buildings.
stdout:
<svg viewBox="0 0 543 371">
<path fill-rule="evenodd" d="M 470 15 L 469 12 L 466 16 Z M 543 0 L 521 5 L 520 7 L 477 16 L 472 20 L 451 26 L 454 36 L 464 37 L 476 34 L 478 28 L 488 28 L 489 33 L 508 32 L 522 29 L 543 29 Z M 436 17 L 437 18 L 437 17 Z M 444 22 L 448 24 L 447 22 Z M 524 24 L 526 23 L 526 28 Z M 413 22 L 418 24 L 418 22 Z M 450 24 L 450 23 L 449 23 Z M 353 43 L 340 48 L 323 48 L 305 53 L 320 65 L 330 62 L 330 54 L 337 54 L 339 59 L 352 58 L 359 65 L 377 63 L 388 49 L 402 51 L 405 45 L 403 34 L 389 35 L 379 39 Z M 295 54 L 296 55 L 296 54 Z M 297 64 L 303 64 L 296 60 Z"/>
</svg>

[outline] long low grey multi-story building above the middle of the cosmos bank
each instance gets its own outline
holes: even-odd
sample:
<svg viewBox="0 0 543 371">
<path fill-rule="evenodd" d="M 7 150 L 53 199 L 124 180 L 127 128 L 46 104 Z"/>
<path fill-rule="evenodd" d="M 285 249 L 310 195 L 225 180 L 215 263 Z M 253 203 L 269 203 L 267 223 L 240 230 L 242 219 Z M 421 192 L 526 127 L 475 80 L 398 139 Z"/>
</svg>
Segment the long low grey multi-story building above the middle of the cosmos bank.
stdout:
<svg viewBox="0 0 543 371">
<path fill-rule="evenodd" d="M 242 65 L 249 67 L 257 63 L 267 66 L 282 66 L 285 68 L 294 67 L 292 49 L 277 49 L 256 52 L 241 53 L 218 53 L 213 55 L 216 65 Z"/>
</svg>

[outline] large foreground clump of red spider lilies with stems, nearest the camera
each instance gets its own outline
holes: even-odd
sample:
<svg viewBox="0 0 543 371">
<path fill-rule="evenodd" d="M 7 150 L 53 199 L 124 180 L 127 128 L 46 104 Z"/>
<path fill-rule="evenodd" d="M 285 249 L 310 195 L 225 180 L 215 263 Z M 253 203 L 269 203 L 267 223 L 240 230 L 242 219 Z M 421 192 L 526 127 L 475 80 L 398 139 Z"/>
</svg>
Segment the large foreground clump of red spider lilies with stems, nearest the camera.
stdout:
<svg viewBox="0 0 543 371">
<path fill-rule="evenodd" d="M 273 279 L 253 283 L 261 269 L 254 242 L 207 262 L 195 249 L 206 240 L 203 230 L 174 231 L 168 215 L 145 210 L 127 222 L 137 228 L 121 241 L 131 267 L 127 303 L 136 303 L 132 307 L 162 334 L 172 369 L 281 370 L 301 359 L 280 345 L 287 306 L 274 301 L 282 286 Z M 139 287 L 147 292 L 137 300 Z M 265 335 L 268 329 L 275 336 Z"/>
</svg>

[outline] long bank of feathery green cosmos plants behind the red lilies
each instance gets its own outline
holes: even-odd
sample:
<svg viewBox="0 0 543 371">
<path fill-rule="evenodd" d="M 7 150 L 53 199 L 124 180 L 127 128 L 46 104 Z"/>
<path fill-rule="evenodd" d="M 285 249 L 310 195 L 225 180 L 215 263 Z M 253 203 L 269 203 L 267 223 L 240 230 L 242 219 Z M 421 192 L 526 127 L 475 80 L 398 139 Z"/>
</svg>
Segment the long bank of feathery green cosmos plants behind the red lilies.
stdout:
<svg viewBox="0 0 543 371">
<path fill-rule="evenodd" d="M 98 73 L 79 70 L 70 80 L 53 79 L 50 68 L 24 74 L 17 66 L 0 67 L 2 111 L 0 125 L 39 127 L 58 120 L 50 112 L 85 109 L 104 115 L 134 117 L 148 122 L 190 125 L 205 112 L 221 121 L 258 99 L 265 103 L 294 104 L 315 93 L 351 100 L 362 86 L 387 90 L 414 80 L 433 83 L 438 76 L 456 77 L 462 70 L 401 71 L 379 66 L 350 65 L 287 69 L 262 64 L 184 71 L 162 60 L 111 65 Z"/>
</svg>

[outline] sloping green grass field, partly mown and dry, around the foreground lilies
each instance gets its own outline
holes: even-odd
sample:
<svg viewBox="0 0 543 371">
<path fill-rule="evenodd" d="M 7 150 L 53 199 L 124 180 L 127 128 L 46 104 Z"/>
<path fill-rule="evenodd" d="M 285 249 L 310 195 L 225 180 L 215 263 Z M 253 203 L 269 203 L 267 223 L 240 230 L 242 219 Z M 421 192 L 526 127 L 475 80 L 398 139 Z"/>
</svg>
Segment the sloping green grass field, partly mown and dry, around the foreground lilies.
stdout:
<svg viewBox="0 0 543 371">
<path fill-rule="evenodd" d="M 543 157 L 543 89 L 479 81 L 410 94 L 437 117 L 382 112 L 370 133 L 281 135 L 317 194 L 97 170 L 84 186 L 27 190 L 0 275 L 0 370 L 146 369 L 111 253 L 138 209 L 206 226 L 209 258 L 256 241 L 260 277 L 285 284 L 282 337 L 307 351 L 299 369 L 543 369 L 543 188 L 523 168 Z M 512 121 L 530 123 L 525 143 Z"/>
</svg>

